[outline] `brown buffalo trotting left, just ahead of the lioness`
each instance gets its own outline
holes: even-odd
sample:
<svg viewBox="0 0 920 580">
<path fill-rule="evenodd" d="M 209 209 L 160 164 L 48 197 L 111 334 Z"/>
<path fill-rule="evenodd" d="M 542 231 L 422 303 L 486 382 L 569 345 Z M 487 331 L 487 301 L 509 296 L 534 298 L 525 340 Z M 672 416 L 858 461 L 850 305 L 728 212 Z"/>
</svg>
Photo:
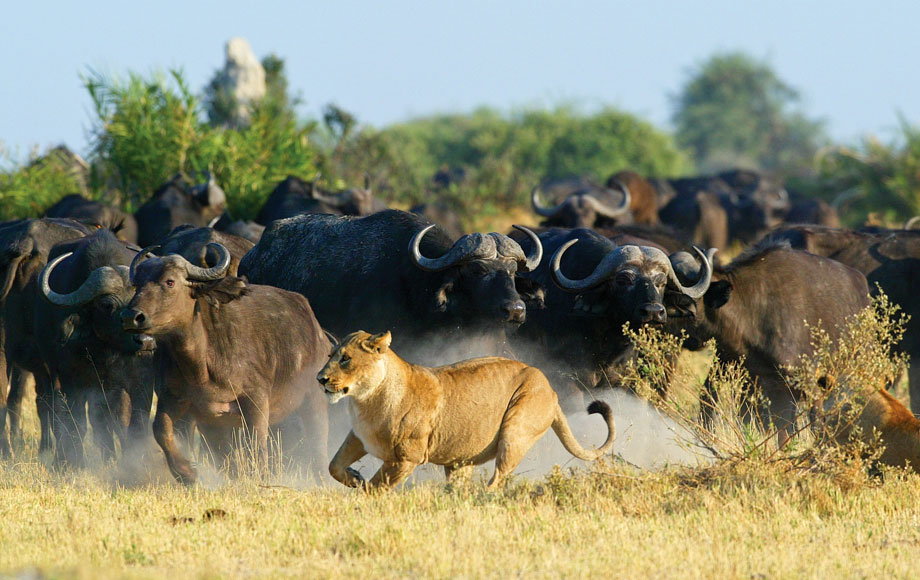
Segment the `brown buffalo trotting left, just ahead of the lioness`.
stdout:
<svg viewBox="0 0 920 580">
<path fill-rule="evenodd" d="M 174 425 L 187 413 L 212 448 L 226 456 L 233 428 L 244 427 L 259 466 L 268 461 L 268 430 L 298 411 L 311 430 L 314 467 L 325 465 L 328 413 L 316 373 L 332 350 L 307 300 L 294 292 L 228 276 L 230 252 L 202 268 L 178 255 L 141 261 L 136 293 L 121 312 L 128 332 L 157 341 L 167 363 L 153 434 L 173 475 L 197 477 L 176 445 Z"/>
</svg>

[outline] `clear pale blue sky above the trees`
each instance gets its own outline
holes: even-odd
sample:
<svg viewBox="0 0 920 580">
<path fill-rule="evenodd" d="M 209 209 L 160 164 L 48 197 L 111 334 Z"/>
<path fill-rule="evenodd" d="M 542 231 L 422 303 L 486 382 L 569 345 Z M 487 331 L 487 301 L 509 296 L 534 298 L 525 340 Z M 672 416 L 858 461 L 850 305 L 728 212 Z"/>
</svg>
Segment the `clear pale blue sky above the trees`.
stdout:
<svg viewBox="0 0 920 580">
<path fill-rule="evenodd" d="M 766 59 L 853 142 L 920 124 L 920 2 L 0 2 L 0 141 L 87 150 L 87 67 L 180 66 L 195 89 L 246 37 L 285 58 L 304 116 L 334 101 L 373 125 L 575 102 L 668 128 L 669 96 L 715 51 Z"/>
</svg>

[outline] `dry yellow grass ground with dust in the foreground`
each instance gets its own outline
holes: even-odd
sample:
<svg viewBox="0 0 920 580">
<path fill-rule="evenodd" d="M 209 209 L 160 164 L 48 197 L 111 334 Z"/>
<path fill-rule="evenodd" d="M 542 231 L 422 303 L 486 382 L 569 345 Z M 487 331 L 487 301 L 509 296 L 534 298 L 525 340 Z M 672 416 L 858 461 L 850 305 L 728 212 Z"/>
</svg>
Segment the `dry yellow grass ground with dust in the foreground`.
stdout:
<svg viewBox="0 0 920 580">
<path fill-rule="evenodd" d="M 676 406 L 692 406 L 708 363 L 706 354 L 684 355 L 683 376 L 696 378 L 678 381 Z M 185 489 L 154 445 L 120 465 L 102 465 L 91 450 L 94 468 L 60 472 L 37 456 L 30 414 L 17 459 L 0 465 L 0 570 L 22 578 L 916 577 L 918 476 L 870 475 L 858 458 L 802 463 L 765 452 L 713 462 L 674 443 L 677 423 L 631 395 L 610 400 L 625 459 L 575 465 L 548 434 L 494 493 L 484 470 L 451 483 L 430 471 L 369 495 L 292 475 L 230 480 L 207 466 L 206 483 Z M 573 428 L 597 444 L 601 421 L 590 421 L 574 416 Z M 661 465 L 668 461 L 680 464 Z"/>
</svg>

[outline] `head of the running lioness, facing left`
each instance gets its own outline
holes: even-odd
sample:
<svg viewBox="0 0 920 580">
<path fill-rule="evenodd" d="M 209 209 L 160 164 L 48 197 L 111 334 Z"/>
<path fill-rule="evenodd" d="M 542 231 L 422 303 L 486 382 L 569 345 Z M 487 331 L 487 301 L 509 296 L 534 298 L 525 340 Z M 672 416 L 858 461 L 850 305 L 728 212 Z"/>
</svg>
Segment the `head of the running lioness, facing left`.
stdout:
<svg viewBox="0 0 920 580">
<path fill-rule="evenodd" d="M 383 354 L 392 339 L 389 331 L 370 334 L 359 330 L 335 347 L 316 375 L 330 403 L 346 396 L 361 398 L 383 382 L 387 372 Z"/>
</svg>

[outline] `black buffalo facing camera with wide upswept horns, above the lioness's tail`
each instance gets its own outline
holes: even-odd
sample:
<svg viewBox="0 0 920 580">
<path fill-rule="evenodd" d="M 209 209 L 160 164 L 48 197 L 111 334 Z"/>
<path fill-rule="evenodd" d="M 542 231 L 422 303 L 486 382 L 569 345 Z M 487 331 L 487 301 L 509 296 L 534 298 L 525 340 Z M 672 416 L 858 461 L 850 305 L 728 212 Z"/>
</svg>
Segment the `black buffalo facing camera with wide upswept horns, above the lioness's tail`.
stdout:
<svg viewBox="0 0 920 580">
<path fill-rule="evenodd" d="M 632 356 L 625 323 L 663 325 L 666 290 L 694 298 L 709 285 L 703 276 L 684 287 L 662 250 L 617 246 L 592 230 L 551 229 L 540 240 L 544 259 L 524 276 L 545 289 L 545 308 L 528 316 L 515 337 L 516 350 L 548 368 L 562 364 L 561 374 L 574 374 L 589 387 L 616 382 L 616 367 Z M 567 390 L 556 375 L 554 385 Z"/>
</svg>

